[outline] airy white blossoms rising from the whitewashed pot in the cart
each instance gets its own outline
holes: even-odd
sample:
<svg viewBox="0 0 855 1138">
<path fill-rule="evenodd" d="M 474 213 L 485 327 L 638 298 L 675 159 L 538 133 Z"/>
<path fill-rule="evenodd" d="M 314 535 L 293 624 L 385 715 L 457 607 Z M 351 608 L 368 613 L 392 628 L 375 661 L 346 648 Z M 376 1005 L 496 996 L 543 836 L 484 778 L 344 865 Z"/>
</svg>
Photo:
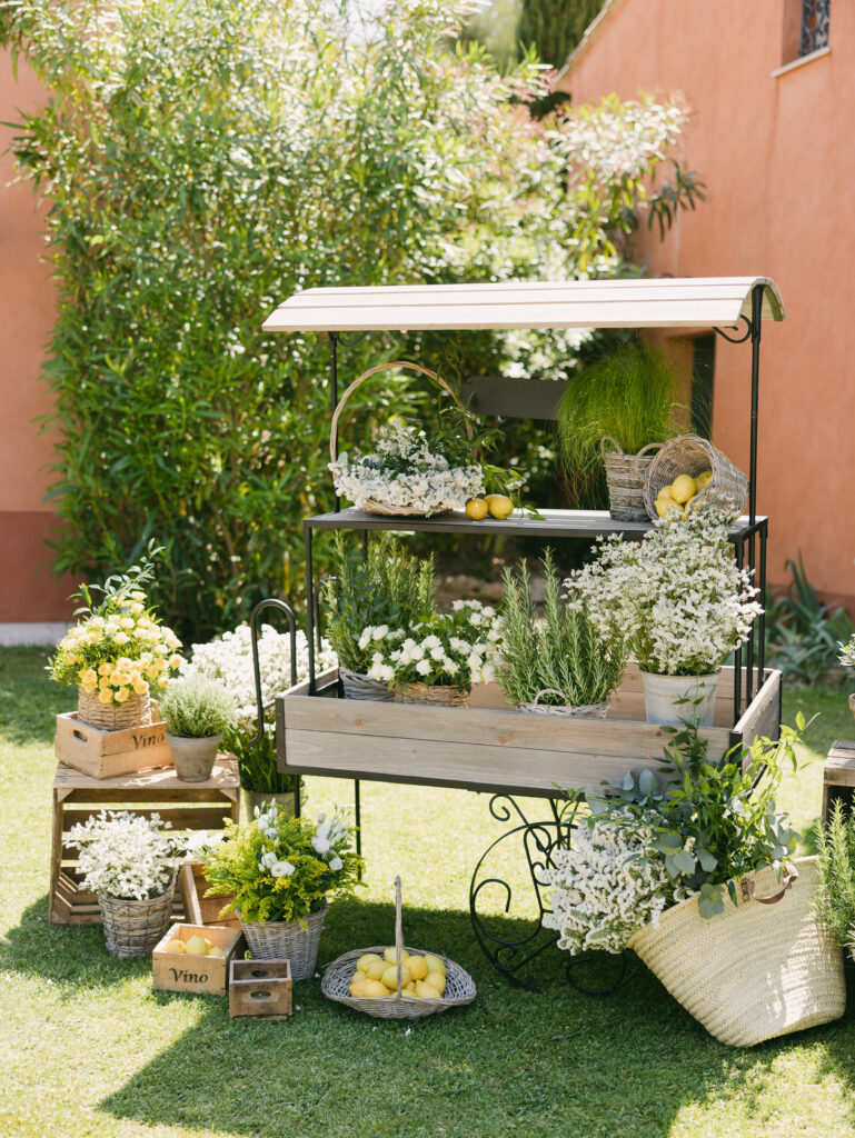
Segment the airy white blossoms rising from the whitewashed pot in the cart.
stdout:
<svg viewBox="0 0 855 1138">
<path fill-rule="evenodd" d="M 640 544 L 613 535 L 597 553 L 565 582 L 569 601 L 586 602 L 602 635 L 619 629 L 644 671 L 715 671 L 763 611 L 712 506 L 660 521 Z"/>
</svg>

